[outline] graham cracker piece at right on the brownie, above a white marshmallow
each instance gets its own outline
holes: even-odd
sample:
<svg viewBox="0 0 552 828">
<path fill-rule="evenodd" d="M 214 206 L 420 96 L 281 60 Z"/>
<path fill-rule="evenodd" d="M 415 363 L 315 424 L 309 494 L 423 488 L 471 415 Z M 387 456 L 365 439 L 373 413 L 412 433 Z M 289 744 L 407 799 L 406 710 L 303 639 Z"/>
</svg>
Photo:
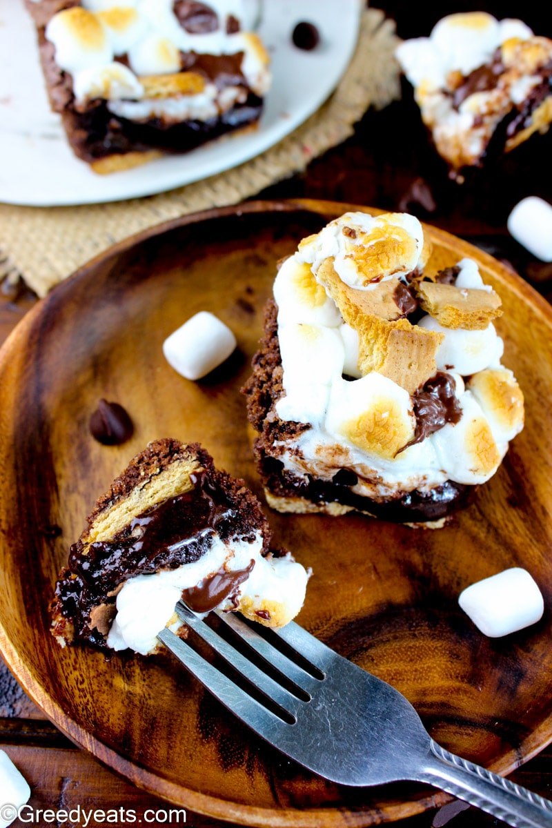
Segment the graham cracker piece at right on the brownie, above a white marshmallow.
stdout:
<svg viewBox="0 0 552 828">
<path fill-rule="evenodd" d="M 418 282 L 415 290 L 422 308 L 444 328 L 484 330 L 502 315 L 502 301 L 495 291 L 439 282 Z"/>
</svg>

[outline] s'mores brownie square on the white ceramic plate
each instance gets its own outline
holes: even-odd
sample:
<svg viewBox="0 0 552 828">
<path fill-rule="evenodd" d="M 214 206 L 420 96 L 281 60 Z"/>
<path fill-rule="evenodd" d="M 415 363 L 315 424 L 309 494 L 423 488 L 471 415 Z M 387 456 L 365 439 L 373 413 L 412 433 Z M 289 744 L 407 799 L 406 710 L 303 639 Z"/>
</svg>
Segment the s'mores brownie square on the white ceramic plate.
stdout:
<svg viewBox="0 0 552 828">
<path fill-rule="evenodd" d="M 257 125 L 271 84 L 242 0 L 25 0 L 51 108 L 98 173 Z"/>
</svg>

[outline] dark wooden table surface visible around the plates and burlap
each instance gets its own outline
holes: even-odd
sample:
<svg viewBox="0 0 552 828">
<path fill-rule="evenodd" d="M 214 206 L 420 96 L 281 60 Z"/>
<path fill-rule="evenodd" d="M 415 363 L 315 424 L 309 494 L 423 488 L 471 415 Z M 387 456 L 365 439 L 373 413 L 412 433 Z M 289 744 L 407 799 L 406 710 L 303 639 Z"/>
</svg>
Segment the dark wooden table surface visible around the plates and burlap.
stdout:
<svg viewBox="0 0 552 828">
<path fill-rule="evenodd" d="M 436 7 L 434 11 L 423 10 L 420 4 L 401 0 L 378 5 L 396 20 L 398 34 L 404 38 L 427 34 L 443 13 Z M 523 17 L 537 33 L 552 36 L 550 9 L 544 3 L 526 2 L 520 8 L 515 3 L 473 6 L 458 2 L 455 10 L 483 7 L 497 17 Z M 552 301 L 552 264 L 545 265 L 531 258 L 506 229 L 511 208 L 524 196 L 540 195 L 552 201 L 551 155 L 552 135 L 535 136 L 511 156 L 493 163 L 487 171 L 478 172 L 473 180 L 457 185 L 448 180 L 444 164 L 430 147 L 411 90 L 404 84 L 401 101 L 380 113 L 368 112 L 354 136 L 314 161 L 305 175 L 283 181 L 259 196 L 301 196 L 406 210 L 509 262 Z M 3 291 L 0 341 L 36 301 L 24 284 L 15 291 Z M 70 744 L 26 697 L 1 663 L 0 748 L 6 750 L 30 783 L 31 805 L 35 808 L 70 811 L 80 806 L 107 811 L 123 807 L 133 809 L 136 821 L 143 822 L 151 819 L 148 809 L 153 809 L 160 811 L 158 824 L 178 824 L 163 821 L 162 811 L 170 807 L 166 802 L 133 787 Z M 545 748 L 519 768 L 511 779 L 552 797 L 552 747 Z M 0 791 L 0 801 L 1 794 Z M 408 828 L 430 828 L 445 822 L 456 828 L 498 824 L 473 808 L 462 811 L 458 808 L 459 803 L 453 802 L 440 811 L 426 812 L 401 824 Z M 25 824 L 14 823 L 15 826 Z M 46 825 L 46 819 L 35 824 Z M 213 828 L 221 823 L 188 812 L 186 825 Z"/>
</svg>

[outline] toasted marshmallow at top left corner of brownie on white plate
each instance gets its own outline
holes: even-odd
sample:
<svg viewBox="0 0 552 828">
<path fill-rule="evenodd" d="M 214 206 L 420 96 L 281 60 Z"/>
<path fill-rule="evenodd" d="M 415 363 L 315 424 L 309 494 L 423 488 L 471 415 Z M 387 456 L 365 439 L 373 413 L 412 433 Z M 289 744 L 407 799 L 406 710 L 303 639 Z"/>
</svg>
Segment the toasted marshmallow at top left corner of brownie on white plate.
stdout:
<svg viewBox="0 0 552 828">
<path fill-rule="evenodd" d="M 102 22 L 78 6 L 55 14 L 46 26 L 46 38 L 55 46 L 55 62 L 71 74 L 113 60 L 113 47 Z"/>
</svg>

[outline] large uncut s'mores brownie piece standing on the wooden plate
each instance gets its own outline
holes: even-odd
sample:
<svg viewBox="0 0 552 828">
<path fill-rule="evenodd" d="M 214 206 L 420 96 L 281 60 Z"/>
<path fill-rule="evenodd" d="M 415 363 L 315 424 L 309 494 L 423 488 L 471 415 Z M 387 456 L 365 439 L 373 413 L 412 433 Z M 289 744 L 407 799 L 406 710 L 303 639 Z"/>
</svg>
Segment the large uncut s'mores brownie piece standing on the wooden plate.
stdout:
<svg viewBox="0 0 552 828">
<path fill-rule="evenodd" d="M 436 527 L 497 471 L 524 417 L 501 300 L 429 258 L 414 216 L 358 212 L 281 263 L 243 388 L 272 508 Z"/>
</svg>

